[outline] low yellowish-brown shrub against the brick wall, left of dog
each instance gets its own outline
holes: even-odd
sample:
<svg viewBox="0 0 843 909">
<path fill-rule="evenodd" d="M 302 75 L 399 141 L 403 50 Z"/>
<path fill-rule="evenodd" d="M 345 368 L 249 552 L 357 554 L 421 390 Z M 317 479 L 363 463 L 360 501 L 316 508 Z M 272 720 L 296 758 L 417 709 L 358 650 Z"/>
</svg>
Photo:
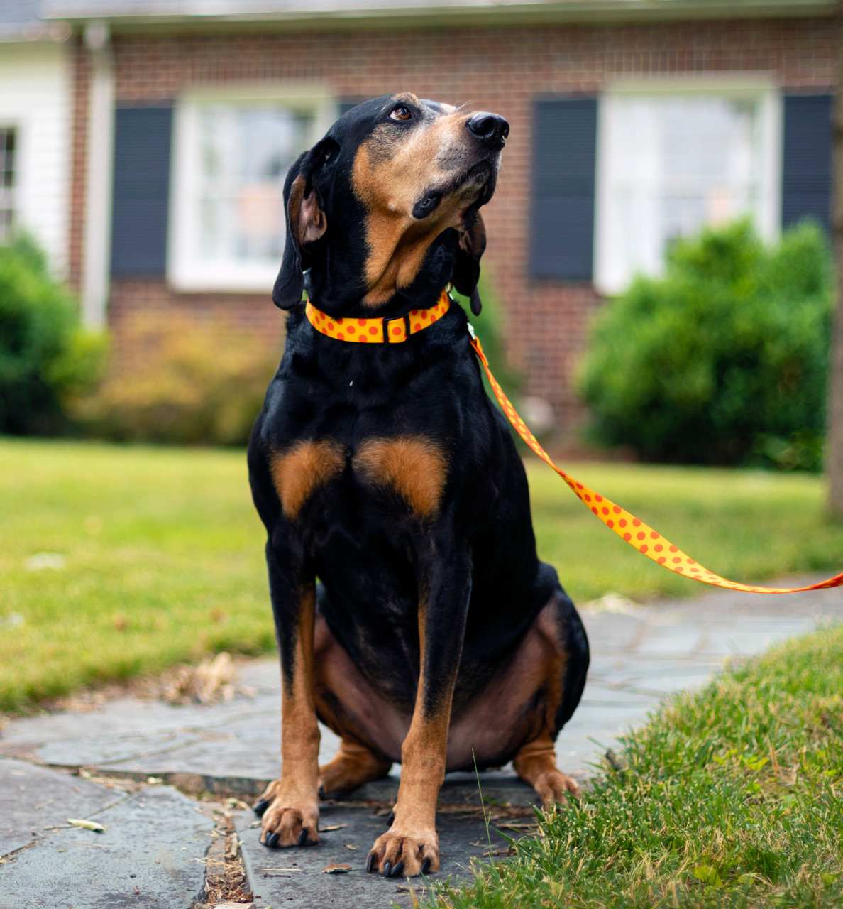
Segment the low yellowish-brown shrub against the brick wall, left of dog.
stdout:
<svg viewBox="0 0 843 909">
<path fill-rule="evenodd" d="M 227 322 L 179 316 L 135 320 L 119 346 L 104 383 L 74 406 L 87 435 L 114 442 L 245 445 L 281 356 Z"/>
</svg>

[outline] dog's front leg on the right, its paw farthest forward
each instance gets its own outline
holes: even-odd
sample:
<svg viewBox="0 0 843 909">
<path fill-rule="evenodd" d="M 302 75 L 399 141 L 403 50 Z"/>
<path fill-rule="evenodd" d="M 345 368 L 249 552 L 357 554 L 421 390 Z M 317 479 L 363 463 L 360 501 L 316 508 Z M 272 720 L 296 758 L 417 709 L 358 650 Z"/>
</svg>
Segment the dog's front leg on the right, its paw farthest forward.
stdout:
<svg viewBox="0 0 843 909">
<path fill-rule="evenodd" d="M 392 825 L 372 846 L 367 871 L 401 877 L 439 870 L 436 799 L 445 776 L 451 701 L 471 595 L 471 555 L 441 551 L 419 596 L 421 666 Z"/>
</svg>

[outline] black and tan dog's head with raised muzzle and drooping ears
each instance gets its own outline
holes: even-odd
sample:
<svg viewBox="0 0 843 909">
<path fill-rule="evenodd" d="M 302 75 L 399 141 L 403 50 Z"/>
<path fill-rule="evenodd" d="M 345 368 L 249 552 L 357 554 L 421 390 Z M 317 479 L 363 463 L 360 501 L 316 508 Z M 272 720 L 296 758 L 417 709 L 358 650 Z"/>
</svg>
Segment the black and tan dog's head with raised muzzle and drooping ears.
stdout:
<svg viewBox="0 0 843 909">
<path fill-rule="evenodd" d="M 314 302 L 331 315 L 412 300 L 449 281 L 479 312 L 478 209 L 494 193 L 507 135 L 501 116 L 408 93 L 342 115 L 287 174 L 275 305 L 301 300 L 309 270 Z"/>
</svg>

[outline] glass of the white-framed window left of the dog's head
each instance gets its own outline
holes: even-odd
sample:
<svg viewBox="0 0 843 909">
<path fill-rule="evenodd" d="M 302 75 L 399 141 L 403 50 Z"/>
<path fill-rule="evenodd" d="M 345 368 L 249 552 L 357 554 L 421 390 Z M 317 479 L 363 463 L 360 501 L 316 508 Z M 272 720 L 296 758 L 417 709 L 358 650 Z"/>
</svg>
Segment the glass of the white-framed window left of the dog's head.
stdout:
<svg viewBox="0 0 843 909">
<path fill-rule="evenodd" d="M 205 105 L 199 125 L 199 256 L 277 262 L 284 176 L 307 145 L 309 118 L 274 105 Z"/>
</svg>

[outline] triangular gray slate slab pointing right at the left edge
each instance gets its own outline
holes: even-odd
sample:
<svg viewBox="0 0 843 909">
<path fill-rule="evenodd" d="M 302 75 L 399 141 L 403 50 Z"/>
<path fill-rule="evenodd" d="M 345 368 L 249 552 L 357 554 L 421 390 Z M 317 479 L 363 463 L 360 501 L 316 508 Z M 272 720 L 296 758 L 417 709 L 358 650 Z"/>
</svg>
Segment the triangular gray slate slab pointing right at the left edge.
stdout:
<svg viewBox="0 0 843 909">
<path fill-rule="evenodd" d="M 0 856 L 52 833 L 45 827 L 89 817 L 124 798 L 78 776 L 0 758 Z"/>
</svg>

